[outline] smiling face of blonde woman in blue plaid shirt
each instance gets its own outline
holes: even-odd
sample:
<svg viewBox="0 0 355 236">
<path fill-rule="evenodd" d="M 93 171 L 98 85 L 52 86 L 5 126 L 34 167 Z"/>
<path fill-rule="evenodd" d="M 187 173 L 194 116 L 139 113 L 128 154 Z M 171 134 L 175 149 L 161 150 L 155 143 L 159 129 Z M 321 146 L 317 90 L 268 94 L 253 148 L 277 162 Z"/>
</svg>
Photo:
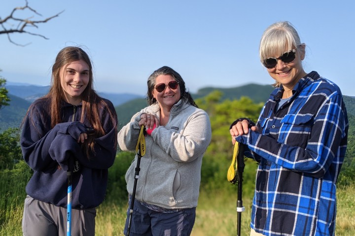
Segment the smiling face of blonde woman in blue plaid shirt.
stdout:
<svg viewBox="0 0 355 236">
<path fill-rule="evenodd" d="M 304 47 L 305 45 L 300 45 L 296 48 L 296 58 L 292 62 L 284 63 L 282 60 L 278 60 L 276 67 L 267 69 L 269 75 L 282 84 L 284 89 L 293 89 L 305 74 L 301 62 L 305 58 Z M 288 47 L 285 48 L 284 52 L 286 51 L 288 51 Z M 279 58 L 280 56 L 272 55 L 271 57 Z"/>
</svg>

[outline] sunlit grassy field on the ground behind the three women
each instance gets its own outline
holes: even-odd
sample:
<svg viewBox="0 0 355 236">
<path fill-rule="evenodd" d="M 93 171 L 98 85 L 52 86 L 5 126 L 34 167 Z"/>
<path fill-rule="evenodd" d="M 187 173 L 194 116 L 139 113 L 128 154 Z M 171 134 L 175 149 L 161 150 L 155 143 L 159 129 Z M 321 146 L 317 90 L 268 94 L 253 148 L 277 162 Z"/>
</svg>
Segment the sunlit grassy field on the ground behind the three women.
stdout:
<svg viewBox="0 0 355 236">
<path fill-rule="evenodd" d="M 28 169 L 28 168 L 27 168 Z M 25 184 L 30 172 L 23 169 L 1 172 L 0 191 L 0 236 L 22 236 L 21 221 L 25 199 Z M 26 177 L 25 177 L 26 176 Z M 18 181 L 24 178 L 23 183 Z M 13 186 L 18 186 L 14 188 Z M 243 185 L 243 188 L 247 185 Z M 234 188 L 234 189 L 233 189 Z M 243 192 L 242 234 L 249 235 L 252 189 Z M 119 201 L 126 195 L 125 190 L 111 192 L 97 209 L 96 235 L 122 236 L 126 219 L 127 202 Z M 237 234 L 237 186 L 227 183 L 223 190 L 202 190 L 196 211 L 196 221 L 192 236 L 235 236 Z M 235 191 L 234 191 L 235 190 Z M 248 190 L 248 191 L 247 191 Z M 123 193 L 124 192 L 124 193 Z M 16 197 L 13 197 L 16 196 Z M 338 187 L 337 191 L 336 236 L 355 236 L 355 185 Z"/>
</svg>

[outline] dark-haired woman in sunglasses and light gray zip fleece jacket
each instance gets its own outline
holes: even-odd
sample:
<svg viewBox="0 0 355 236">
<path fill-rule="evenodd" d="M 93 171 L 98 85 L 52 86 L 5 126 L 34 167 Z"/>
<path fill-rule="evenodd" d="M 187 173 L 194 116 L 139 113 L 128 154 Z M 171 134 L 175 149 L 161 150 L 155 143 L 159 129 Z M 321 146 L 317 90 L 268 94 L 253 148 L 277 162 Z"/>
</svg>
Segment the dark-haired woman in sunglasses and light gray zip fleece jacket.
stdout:
<svg viewBox="0 0 355 236">
<path fill-rule="evenodd" d="M 118 133 L 124 151 L 135 150 L 142 125 L 147 133 L 130 235 L 188 236 L 195 222 L 202 157 L 211 141 L 210 119 L 172 68 L 154 71 L 147 85 L 149 106 Z M 130 202 L 137 159 L 126 173 Z M 129 211 L 127 215 L 125 235 Z"/>
</svg>

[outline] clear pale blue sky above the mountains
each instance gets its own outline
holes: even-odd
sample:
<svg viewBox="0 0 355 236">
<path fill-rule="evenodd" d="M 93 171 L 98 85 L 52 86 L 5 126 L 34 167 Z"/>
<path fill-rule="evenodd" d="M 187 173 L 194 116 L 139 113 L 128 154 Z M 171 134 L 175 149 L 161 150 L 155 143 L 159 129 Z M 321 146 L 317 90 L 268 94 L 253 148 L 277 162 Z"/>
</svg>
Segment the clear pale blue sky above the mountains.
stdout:
<svg viewBox="0 0 355 236">
<path fill-rule="evenodd" d="M 352 0 L 28 0 L 43 17 L 33 32 L 0 34 L 0 75 L 8 82 L 50 85 L 65 46 L 83 46 L 94 63 L 95 89 L 145 95 L 146 79 L 168 65 L 191 92 L 274 81 L 258 57 L 263 31 L 289 21 L 307 45 L 303 66 L 355 96 L 355 1 Z M 4 17 L 25 0 L 2 0 Z M 34 15 L 33 13 L 27 14 Z M 35 16 L 35 15 L 34 15 Z M 37 18 L 37 16 L 35 16 Z"/>
</svg>

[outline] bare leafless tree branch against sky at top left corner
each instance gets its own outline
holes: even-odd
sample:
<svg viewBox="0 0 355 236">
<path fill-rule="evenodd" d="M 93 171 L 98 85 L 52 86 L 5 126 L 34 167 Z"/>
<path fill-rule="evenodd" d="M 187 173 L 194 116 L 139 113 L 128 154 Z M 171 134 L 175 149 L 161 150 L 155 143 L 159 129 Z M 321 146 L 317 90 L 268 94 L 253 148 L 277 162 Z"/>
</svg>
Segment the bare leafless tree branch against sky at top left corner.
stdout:
<svg viewBox="0 0 355 236">
<path fill-rule="evenodd" d="M 49 38 L 45 37 L 42 34 L 33 33 L 33 32 L 28 31 L 26 29 L 29 28 L 29 27 L 38 28 L 38 26 L 37 26 L 38 24 L 47 23 L 48 21 L 52 20 L 55 17 L 58 17 L 60 14 L 62 14 L 64 12 L 64 11 L 61 11 L 61 12 L 59 12 L 58 14 L 56 14 L 54 16 L 51 16 L 51 17 L 48 17 L 48 18 L 45 18 L 45 19 L 42 19 L 42 20 L 32 20 L 34 18 L 34 16 L 30 16 L 28 18 L 15 17 L 14 14 L 17 11 L 23 11 L 23 10 L 26 10 L 26 9 L 30 10 L 33 13 L 35 13 L 37 16 L 42 16 L 35 9 L 33 9 L 32 7 L 29 6 L 27 0 L 25 0 L 25 1 L 26 1 L 26 5 L 25 6 L 15 7 L 8 16 L 6 16 L 5 18 L 1 18 L 0 17 L 0 25 L 1 25 L 1 28 L 2 28 L 2 30 L 0 30 L 0 34 L 7 34 L 8 40 L 11 43 L 13 43 L 13 44 L 15 44 L 17 46 L 26 46 L 28 44 L 21 45 L 21 44 L 15 43 L 10 37 L 11 33 L 27 33 L 27 34 L 30 34 L 30 35 L 42 37 L 44 39 L 49 39 Z M 17 26 L 14 26 L 15 23 L 16 24 L 18 23 Z M 9 26 L 9 28 L 7 28 L 8 26 Z"/>
</svg>

